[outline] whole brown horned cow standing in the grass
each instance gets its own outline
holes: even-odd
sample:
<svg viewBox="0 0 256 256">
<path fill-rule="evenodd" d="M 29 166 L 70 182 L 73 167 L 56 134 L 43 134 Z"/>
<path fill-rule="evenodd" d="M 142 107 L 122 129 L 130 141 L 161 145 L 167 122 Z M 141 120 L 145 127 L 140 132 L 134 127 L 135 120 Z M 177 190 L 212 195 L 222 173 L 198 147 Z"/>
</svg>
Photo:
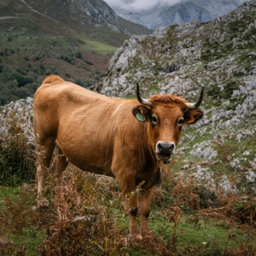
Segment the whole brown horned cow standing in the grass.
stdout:
<svg viewBox="0 0 256 256">
<path fill-rule="evenodd" d="M 137 85 L 137 99 L 113 99 L 56 75 L 47 77 L 33 105 L 38 205 L 48 205 L 44 185 L 54 153 L 57 177 L 71 161 L 82 170 L 116 178 L 128 203 L 131 237 L 148 234 L 150 201 L 154 186 L 161 182 L 161 164 L 175 154 L 182 126 L 202 118 L 202 95 L 203 89 L 193 104 L 175 95 L 142 99 Z M 142 183 L 140 196 L 129 199 L 126 195 Z"/>
</svg>

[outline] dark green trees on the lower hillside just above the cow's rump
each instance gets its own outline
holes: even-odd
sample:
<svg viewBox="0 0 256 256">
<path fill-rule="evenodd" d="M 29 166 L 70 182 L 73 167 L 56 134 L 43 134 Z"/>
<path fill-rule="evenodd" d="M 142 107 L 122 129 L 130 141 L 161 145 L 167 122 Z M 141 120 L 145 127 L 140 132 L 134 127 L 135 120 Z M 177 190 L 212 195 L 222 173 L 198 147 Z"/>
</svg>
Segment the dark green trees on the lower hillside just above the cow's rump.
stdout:
<svg viewBox="0 0 256 256">
<path fill-rule="evenodd" d="M 20 56 L 19 49 L 7 49 L 0 50 L 0 106 L 6 105 L 9 102 L 16 101 L 18 99 L 26 99 L 26 97 L 33 97 L 36 88 L 38 88 L 43 79 L 49 74 L 60 74 L 67 81 L 73 81 L 74 83 L 81 85 L 85 88 L 92 86 L 95 81 L 99 81 L 102 77 L 99 68 L 93 67 L 93 62 L 88 59 L 83 59 L 80 52 L 60 55 L 58 61 L 64 61 L 66 64 L 70 64 L 71 71 L 65 72 L 59 71 L 56 65 L 49 66 L 44 64 L 45 56 L 29 57 L 20 56 L 21 61 L 17 61 L 17 64 L 12 65 L 5 64 L 7 58 L 14 59 L 13 56 Z M 78 62 L 85 64 L 85 72 L 89 72 L 88 76 L 82 77 L 79 72 L 74 72 L 73 69 Z M 15 63 L 15 62 L 14 62 Z"/>
</svg>

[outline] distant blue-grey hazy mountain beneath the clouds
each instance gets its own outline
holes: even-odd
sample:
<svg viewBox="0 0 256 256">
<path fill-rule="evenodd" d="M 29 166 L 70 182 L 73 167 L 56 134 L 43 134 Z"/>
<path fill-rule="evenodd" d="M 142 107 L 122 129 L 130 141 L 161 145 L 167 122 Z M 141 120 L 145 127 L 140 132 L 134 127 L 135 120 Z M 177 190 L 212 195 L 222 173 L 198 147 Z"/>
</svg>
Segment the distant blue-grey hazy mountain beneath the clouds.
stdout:
<svg viewBox="0 0 256 256">
<path fill-rule="evenodd" d="M 245 1 L 182 0 L 175 5 L 157 2 L 157 5 L 150 9 L 132 9 L 130 8 L 132 2 L 128 1 L 126 5 L 111 5 L 111 7 L 123 19 L 146 26 L 149 29 L 159 29 L 162 26 L 191 22 L 193 19 L 197 19 L 199 22 L 208 22 L 237 9 Z"/>
</svg>

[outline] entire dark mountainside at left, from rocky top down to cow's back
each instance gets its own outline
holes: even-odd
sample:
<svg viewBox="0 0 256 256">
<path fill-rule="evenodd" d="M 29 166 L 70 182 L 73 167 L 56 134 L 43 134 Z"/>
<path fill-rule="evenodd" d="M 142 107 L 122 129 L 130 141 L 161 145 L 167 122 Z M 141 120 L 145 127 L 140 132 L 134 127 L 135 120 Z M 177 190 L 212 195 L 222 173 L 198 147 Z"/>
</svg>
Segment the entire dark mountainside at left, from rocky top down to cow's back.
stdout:
<svg viewBox="0 0 256 256">
<path fill-rule="evenodd" d="M 148 31 L 136 24 L 132 28 Z M 93 85 L 129 38 L 128 30 L 101 0 L 2 0 L 0 105 L 33 96 L 47 74 Z"/>
</svg>

